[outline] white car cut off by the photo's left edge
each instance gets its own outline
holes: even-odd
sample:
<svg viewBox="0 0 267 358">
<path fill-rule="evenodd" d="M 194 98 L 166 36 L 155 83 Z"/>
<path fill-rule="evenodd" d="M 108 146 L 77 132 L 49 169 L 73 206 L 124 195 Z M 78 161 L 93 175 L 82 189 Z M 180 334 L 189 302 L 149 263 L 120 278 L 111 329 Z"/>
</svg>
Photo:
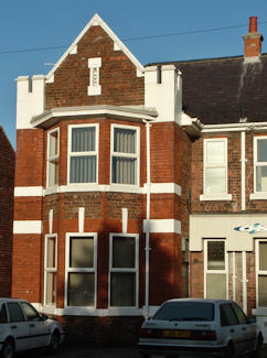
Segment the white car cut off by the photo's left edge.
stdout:
<svg viewBox="0 0 267 358">
<path fill-rule="evenodd" d="M 49 319 L 24 300 L 0 299 L 0 352 L 13 358 L 17 351 L 47 347 L 56 351 L 64 339 L 61 324 Z"/>
</svg>

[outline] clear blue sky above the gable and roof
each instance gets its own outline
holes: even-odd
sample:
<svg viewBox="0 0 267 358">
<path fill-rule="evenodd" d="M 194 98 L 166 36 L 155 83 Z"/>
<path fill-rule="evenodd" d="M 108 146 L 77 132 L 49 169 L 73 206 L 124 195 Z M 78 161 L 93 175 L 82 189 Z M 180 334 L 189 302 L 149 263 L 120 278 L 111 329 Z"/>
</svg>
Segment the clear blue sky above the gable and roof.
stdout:
<svg viewBox="0 0 267 358">
<path fill-rule="evenodd" d="M 14 148 L 14 79 L 49 73 L 95 13 L 143 65 L 242 55 L 254 15 L 267 39 L 266 0 L 1 0 L 0 124 Z"/>
</svg>

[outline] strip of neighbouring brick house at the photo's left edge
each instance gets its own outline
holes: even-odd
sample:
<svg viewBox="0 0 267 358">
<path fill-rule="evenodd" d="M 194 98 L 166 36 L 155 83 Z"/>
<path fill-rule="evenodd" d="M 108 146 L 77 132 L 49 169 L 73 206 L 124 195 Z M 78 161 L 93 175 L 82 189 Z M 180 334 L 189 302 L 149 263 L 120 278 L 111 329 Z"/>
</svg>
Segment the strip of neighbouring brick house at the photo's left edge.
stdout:
<svg viewBox="0 0 267 358">
<path fill-rule="evenodd" d="M 0 126 L 0 296 L 11 295 L 14 150 Z"/>
</svg>

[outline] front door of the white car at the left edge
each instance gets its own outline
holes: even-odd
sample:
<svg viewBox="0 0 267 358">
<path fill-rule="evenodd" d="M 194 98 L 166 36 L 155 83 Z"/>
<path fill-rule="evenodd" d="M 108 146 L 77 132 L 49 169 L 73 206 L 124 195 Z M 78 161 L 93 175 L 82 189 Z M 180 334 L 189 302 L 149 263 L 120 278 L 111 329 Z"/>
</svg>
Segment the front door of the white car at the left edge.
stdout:
<svg viewBox="0 0 267 358">
<path fill-rule="evenodd" d="M 49 334 L 47 327 L 44 325 L 44 321 L 29 302 L 22 301 L 20 302 L 20 305 L 29 322 L 30 348 L 43 347 L 45 345 L 45 338 Z"/>
</svg>

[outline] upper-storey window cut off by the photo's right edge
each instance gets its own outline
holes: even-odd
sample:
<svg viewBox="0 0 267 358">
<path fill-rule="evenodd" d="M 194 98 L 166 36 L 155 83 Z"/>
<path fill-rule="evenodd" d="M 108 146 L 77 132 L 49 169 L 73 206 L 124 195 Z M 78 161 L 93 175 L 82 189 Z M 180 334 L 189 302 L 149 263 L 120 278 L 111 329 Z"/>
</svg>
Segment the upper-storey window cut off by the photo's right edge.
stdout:
<svg viewBox="0 0 267 358">
<path fill-rule="evenodd" d="M 267 193 L 267 137 L 254 138 L 254 192 Z"/>
</svg>

